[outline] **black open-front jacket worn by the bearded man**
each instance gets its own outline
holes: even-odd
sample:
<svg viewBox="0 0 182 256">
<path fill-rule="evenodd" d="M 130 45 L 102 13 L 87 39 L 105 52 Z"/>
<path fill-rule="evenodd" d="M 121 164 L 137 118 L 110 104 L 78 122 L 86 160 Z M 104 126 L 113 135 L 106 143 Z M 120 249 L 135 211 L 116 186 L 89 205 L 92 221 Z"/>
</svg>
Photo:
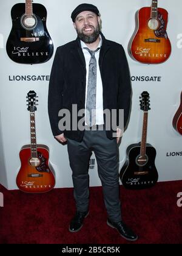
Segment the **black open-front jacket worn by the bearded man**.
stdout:
<svg viewBox="0 0 182 256">
<path fill-rule="evenodd" d="M 124 126 L 129 118 L 130 110 L 130 74 L 126 54 L 121 44 L 106 40 L 99 54 L 99 69 L 103 82 L 103 109 L 124 109 Z M 84 131 L 59 130 L 59 110 L 67 108 L 72 118 L 72 104 L 77 104 L 78 111 L 85 108 L 86 101 L 86 62 L 77 38 L 56 50 L 49 83 L 49 118 L 53 135 L 64 135 L 81 141 Z M 78 118 L 81 119 L 81 117 Z M 118 123 L 118 116 L 117 116 Z M 71 124 L 72 126 L 72 124 Z M 72 128 L 72 127 L 71 127 Z M 112 139 L 113 130 L 107 131 Z"/>
</svg>

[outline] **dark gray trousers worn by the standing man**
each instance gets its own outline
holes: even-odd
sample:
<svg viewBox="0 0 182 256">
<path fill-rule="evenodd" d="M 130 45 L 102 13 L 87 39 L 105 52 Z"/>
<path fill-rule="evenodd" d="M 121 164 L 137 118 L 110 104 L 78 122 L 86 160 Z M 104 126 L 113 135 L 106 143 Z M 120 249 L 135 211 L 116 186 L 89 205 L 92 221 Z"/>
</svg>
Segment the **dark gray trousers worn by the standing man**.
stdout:
<svg viewBox="0 0 182 256">
<path fill-rule="evenodd" d="M 89 208 L 89 160 L 92 151 L 98 165 L 107 215 L 112 221 L 121 221 L 119 196 L 118 146 L 116 139 L 109 140 L 105 130 L 86 130 L 81 143 L 67 138 L 76 209 Z"/>
</svg>

